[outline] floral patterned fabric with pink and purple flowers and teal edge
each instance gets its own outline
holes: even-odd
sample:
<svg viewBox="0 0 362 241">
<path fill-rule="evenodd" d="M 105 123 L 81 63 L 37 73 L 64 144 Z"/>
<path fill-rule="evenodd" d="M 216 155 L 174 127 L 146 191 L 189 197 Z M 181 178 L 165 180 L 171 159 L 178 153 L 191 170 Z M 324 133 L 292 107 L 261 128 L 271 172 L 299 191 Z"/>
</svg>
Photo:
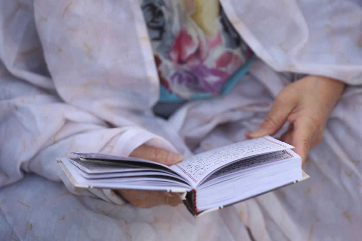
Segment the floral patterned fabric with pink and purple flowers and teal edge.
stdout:
<svg viewBox="0 0 362 241">
<path fill-rule="evenodd" d="M 253 53 L 218 0 L 143 0 L 141 8 L 161 102 L 225 94 L 247 71 Z"/>
</svg>

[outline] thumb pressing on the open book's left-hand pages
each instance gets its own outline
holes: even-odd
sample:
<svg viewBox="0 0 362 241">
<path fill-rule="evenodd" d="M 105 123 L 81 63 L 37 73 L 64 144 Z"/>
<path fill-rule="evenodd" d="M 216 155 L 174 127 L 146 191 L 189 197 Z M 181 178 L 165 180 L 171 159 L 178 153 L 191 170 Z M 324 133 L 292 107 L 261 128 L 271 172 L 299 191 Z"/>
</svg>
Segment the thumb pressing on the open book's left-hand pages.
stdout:
<svg viewBox="0 0 362 241">
<path fill-rule="evenodd" d="M 151 160 L 153 162 L 158 162 L 165 165 L 176 164 L 184 159 L 184 156 L 181 154 L 147 145 L 140 145 L 134 151 L 132 151 L 130 156 Z"/>
</svg>

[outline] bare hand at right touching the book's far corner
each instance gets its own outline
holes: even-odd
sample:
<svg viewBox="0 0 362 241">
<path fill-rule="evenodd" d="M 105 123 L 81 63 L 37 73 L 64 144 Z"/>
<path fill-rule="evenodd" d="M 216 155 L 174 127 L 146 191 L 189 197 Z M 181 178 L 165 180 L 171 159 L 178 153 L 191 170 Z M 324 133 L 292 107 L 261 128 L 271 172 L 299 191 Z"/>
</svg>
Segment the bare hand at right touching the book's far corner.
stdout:
<svg viewBox="0 0 362 241">
<path fill-rule="evenodd" d="M 307 76 L 292 82 L 279 92 L 260 127 L 246 132 L 245 136 L 273 135 L 288 121 L 289 128 L 281 140 L 295 147 L 303 166 L 308 150 L 321 141 L 328 116 L 344 86 L 341 81 L 320 76 Z"/>
</svg>

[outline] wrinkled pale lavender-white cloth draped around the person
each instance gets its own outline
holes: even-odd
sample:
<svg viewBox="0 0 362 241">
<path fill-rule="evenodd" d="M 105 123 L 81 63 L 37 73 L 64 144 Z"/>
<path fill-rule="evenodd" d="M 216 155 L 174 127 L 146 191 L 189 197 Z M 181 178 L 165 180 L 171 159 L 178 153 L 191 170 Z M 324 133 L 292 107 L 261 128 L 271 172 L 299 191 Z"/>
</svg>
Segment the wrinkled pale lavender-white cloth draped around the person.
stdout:
<svg viewBox="0 0 362 241">
<path fill-rule="evenodd" d="M 159 79 L 137 1 L 0 3 L 1 240 L 359 240 L 361 1 L 220 2 L 261 60 L 229 95 L 169 120 L 151 111 Z M 74 189 L 55 162 L 67 151 L 129 155 L 147 143 L 188 156 L 240 141 L 291 82 L 283 72 L 348 83 L 307 181 L 194 219 L 182 205 L 135 208 L 109 189 Z"/>
</svg>

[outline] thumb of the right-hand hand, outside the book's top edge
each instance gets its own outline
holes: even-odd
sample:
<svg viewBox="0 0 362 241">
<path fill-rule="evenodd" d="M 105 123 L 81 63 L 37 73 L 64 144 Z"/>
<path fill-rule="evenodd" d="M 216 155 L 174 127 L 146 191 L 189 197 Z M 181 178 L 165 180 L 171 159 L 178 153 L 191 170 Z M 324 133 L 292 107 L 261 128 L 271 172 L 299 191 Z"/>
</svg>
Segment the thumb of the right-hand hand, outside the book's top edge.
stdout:
<svg viewBox="0 0 362 241">
<path fill-rule="evenodd" d="M 248 134 L 251 138 L 262 137 L 263 135 L 273 135 L 283 126 L 292 107 L 281 102 L 278 98 L 275 99 L 268 115 L 265 117 L 260 127 Z"/>
</svg>

